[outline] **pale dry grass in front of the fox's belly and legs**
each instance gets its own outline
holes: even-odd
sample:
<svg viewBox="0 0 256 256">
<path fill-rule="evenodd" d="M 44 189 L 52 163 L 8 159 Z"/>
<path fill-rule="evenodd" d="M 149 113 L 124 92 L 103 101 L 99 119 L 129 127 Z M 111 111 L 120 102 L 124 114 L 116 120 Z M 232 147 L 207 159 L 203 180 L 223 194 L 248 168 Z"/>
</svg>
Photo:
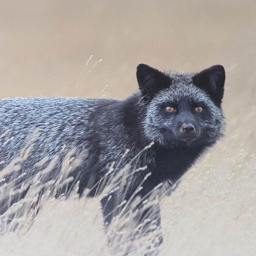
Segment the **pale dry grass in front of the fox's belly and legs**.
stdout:
<svg viewBox="0 0 256 256">
<path fill-rule="evenodd" d="M 107 255 L 108 250 L 111 251 L 112 255 L 120 256 L 128 255 L 128 251 L 129 255 L 142 255 L 144 253 L 151 255 L 149 253 L 155 254 L 159 250 L 155 244 L 158 243 L 161 233 L 156 226 L 156 220 L 150 219 L 150 214 L 154 215 L 154 207 L 158 205 L 159 195 L 157 191 L 161 184 L 152 190 L 148 197 L 137 197 L 151 173 L 145 174 L 140 186 L 127 202 L 121 195 L 118 196 L 118 201 L 115 202 L 118 214 L 108 229 L 104 230 L 99 198 L 94 200 L 87 198 L 86 194 L 90 191 L 85 190 L 84 196 L 79 200 L 77 191 L 80 181 L 68 176 L 71 170 L 74 170 L 82 160 L 86 160 L 86 151 L 76 158 L 73 157 L 76 148 L 68 152 L 62 162 L 60 173 L 54 172 L 54 176 L 52 176 L 52 170 L 56 162 L 59 161 L 58 155 L 54 156 L 42 170 L 33 175 L 31 175 L 30 170 L 20 173 L 18 166 L 21 166 L 22 162 L 26 163 L 37 136 L 38 131 L 29 135 L 26 148 L 22 149 L 20 155 L 4 167 L 0 173 L 2 178 L 0 202 L 4 202 L 0 205 L 2 212 L 0 215 L 0 233 L 2 234 L 0 241 L 3 244 L 8 244 L 6 241 L 12 240 L 16 241 L 15 244 L 17 245 L 15 249 L 10 246 L 7 248 L 1 246 L 1 255 L 10 255 L 16 252 L 21 255 L 23 253 L 24 255 L 35 255 L 35 253 L 36 255 L 45 255 L 48 254 L 46 250 L 38 252 L 39 247 L 44 248 L 42 246 L 44 243 L 50 254 L 57 250 L 57 255 L 69 255 L 69 253 L 72 255 L 74 252 L 76 255 L 101 255 L 103 252 L 104 255 Z M 146 146 L 142 152 L 153 145 L 154 143 L 151 143 Z M 132 161 L 136 160 L 142 152 L 137 154 Z M 125 154 L 128 154 L 128 150 Z M 35 167 L 43 166 L 43 163 L 45 161 L 40 160 L 35 164 Z M 102 196 L 108 195 L 109 199 L 112 192 L 125 191 L 134 172 L 146 170 L 146 166 L 133 170 L 131 165 L 127 164 L 125 168 L 118 170 L 118 175 L 112 175 L 116 172 L 113 166 L 114 162 L 107 174 L 94 186 L 97 188 L 96 191 L 101 191 Z M 12 178 L 9 178 L 10 176 Z M 111 182 L 108 179 L 109 176 L 111 176 Z M 65 191 L 65 186 L 70 183 L 73 183 L 73 189 L 71 194 L 68 194 L 68 200 L 65 200 L 66 194 L 58 196 L 59 191 Z M 142 206 L 139 209 L 138 204 L 140 203 Z M 152 208 L 150 214 L 147 214 L 142 222 L 139 222 L 140 216 L 149 207 Z M 37 216 L 38 210 L 40 214 Z M 92 212 L 94 214 L 91 214 Z M 65 227 L 64 230 L 63 226 Z M 98 232 L 95 232 L 96 230 L 100 232 L 100 236 Z M 95 238 L 93 238 L 94 235 Z M 97 249 L 94 248 L 95 244 L 91 244 L 92 240 L 99 241 Z M 68 241 L 73 241 L 73 244 L 69 244 Z M 26 243 L 32 248 L 24 246 Z M 81 248 L 81 250 L 76 243 L 80 243 L 83 249 Z M 106 246 L 107 244 L 108 246 Z M 57 249 L 59 246 L 61 247 L 60 250 Z M 73 247 L 76 249 L 74 250 Z"/>
</svg>

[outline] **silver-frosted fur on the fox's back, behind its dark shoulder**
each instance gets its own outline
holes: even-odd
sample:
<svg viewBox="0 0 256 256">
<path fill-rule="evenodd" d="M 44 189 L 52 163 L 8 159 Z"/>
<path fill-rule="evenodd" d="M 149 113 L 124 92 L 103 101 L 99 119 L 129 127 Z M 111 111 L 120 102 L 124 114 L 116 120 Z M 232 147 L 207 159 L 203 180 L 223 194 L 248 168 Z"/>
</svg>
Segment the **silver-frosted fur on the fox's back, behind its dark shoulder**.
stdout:
<svg viewBox="0 0 256 256">
<path fill-rule="evenodd" d="M 93 113 L 115 100 L 84 98 L 6 98 L 0 100 L 0 169 L 30 148 L 33 162 L 63 147 L 84 150 Z M 79 153 L 79 152 L 77 152 Z M 26 161 L 27 166 L 31 166 Z"/>
</svg>

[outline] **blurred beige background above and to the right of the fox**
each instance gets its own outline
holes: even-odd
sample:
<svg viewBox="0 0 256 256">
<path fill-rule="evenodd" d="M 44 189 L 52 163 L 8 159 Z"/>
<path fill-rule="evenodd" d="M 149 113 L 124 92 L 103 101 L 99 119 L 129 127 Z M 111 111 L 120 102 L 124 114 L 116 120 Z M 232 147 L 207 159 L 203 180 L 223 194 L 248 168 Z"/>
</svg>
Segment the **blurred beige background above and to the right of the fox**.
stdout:
<svg viewBox="0 0 256 256">
<path fill-rule="evenodd" d="M 255 255 L 255 0 L 0 0 L 0 98 L 121 99 L 139 63 L 226 69 L 226 137 L 164 199 L 164 255 Z"/>
</svg>

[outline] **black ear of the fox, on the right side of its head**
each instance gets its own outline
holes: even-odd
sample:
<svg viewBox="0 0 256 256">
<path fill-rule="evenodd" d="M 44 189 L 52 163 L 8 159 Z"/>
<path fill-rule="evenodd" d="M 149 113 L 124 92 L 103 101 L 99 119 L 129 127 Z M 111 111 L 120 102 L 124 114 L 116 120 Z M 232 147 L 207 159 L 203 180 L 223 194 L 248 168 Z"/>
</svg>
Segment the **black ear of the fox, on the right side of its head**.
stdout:
<svg viewBox="0 0 256 256">
<path fill-rule="evenodd" d="M 225 70 L 221 65 L 207 68 L 193 77 L 193 82 L 205 90 L 217 106 L 221 105 L 224 95 Z"/>
</svg>

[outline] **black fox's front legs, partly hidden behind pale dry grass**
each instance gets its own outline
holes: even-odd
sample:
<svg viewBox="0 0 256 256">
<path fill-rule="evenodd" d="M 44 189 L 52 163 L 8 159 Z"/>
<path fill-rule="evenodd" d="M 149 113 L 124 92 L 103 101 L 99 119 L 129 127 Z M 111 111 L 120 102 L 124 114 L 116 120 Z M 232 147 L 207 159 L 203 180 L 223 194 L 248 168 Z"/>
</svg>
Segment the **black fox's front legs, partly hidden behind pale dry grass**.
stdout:
<svg viewBox="0 0 256 256">
<path fill-rule="evenodd" d="M 159 204 L 150 206 L 127 202 L 116 194 L 101 200 L 104 224 L 112 253 L 118 255 L 158 255 L 163 242 Z"/>
</svg>

